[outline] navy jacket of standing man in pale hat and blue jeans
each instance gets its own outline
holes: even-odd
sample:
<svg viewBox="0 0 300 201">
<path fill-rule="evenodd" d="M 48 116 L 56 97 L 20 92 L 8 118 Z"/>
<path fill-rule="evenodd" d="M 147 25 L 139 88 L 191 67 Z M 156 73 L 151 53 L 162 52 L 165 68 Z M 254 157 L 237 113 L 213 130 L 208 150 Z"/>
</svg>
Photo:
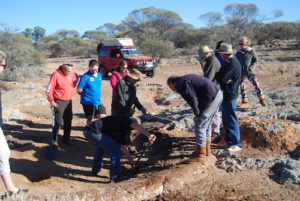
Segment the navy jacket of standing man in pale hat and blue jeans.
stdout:
<svg viewBox="0 0 300 201">
<path fill-rule="evenodd" d="M 241 82 L 241 64 L 235 56 L 225 61 L 216 79 L 223 90 L 223 100 L 232 100 L 238 97 L 239 84 Z M 230 83 L 227 83 L 231 80 Z"/>
</svg>

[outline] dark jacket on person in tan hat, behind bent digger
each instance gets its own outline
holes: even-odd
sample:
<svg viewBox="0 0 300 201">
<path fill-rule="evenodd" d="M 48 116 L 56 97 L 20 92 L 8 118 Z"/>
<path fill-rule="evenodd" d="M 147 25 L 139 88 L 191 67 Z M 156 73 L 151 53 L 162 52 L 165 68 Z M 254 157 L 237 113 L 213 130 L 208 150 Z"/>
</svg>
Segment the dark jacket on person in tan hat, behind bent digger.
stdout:
<svg viewBox="0 0 300 201">
<path fill-rule="evenodd" d="M 116 86 L 116 94 L 112 101 L 112 107 L 117 114 L 128 114 L 133 105 L 139 110 L 143 108 L 143 105 L 136 96 L 136 86 L 131 84 L 127 78 L 125 76 Z"/>
</svg>

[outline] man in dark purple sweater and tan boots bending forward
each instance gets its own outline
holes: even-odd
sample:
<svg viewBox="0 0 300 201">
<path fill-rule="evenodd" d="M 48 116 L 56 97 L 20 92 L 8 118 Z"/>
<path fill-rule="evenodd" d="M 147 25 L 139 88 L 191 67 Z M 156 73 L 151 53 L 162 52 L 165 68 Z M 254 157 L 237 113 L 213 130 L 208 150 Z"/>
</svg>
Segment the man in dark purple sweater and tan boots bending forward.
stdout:
<svg viewBox="0 0 300 201">
<path fill-rule="evenodd" d="M 182 96 L 195 114 L 197 146 L 189 161 L 204 163 L 206 156 L 210 155 L 211 122 L 222 103 L 223 93 L 212 81 L 196 74 L 172 76 L 167 83 L 172 91 Z"/>
</svg>

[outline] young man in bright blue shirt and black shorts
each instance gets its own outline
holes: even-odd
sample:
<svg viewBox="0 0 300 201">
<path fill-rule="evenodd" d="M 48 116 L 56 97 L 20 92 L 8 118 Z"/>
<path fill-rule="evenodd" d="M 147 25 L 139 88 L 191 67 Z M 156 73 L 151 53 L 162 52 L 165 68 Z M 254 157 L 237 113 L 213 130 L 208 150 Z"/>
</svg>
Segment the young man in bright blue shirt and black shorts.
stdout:
<svg viewBox="0 0 300 201">
<path fill-rule="evenodd" d="M 87 123 L 96 118 L 106 116 L 106 109 L 102 104 L 101 97 L 102 74 L 98 72 L 98 62 L 94 59 L 89 61 L 89 71 L 80 79 L 77 93 L 81 95 L 82 104 Z"/>
</svg>

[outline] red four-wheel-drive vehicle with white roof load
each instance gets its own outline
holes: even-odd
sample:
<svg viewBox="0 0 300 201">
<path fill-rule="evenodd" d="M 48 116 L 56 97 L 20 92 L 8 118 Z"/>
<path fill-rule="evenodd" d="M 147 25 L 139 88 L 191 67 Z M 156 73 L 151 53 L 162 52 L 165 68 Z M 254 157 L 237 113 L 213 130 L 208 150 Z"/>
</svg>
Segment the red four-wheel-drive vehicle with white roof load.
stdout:
<svg viewBox="0 0 300 201">
<path fill-rule="evenodd" d="M 97 47 L 99 70 L 106 75 L 116 69 L 121 60 L 126 60 L 129 68 L 135 68 L 149 77 L 153 77 L 156 62 L 144 56 L 134 45 L 131 38 L 103 40 Z"/>
</svg>

